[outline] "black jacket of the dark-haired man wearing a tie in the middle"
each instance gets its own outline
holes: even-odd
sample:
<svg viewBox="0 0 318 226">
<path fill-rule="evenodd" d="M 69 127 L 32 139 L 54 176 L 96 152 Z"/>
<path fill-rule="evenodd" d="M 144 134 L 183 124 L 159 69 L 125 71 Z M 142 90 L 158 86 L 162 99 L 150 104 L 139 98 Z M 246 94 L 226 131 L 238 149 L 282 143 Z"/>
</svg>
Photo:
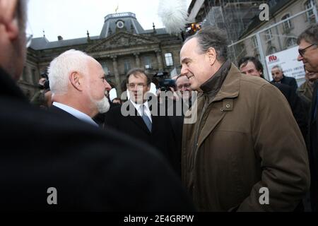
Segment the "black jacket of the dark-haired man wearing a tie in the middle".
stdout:
<svg viewBox="0 0 318 226">
<path fill-rule="evenodd" d="M 132 114 L 124 117 L 122 115 L 122 108 L 124 109 L 124 107 L 126 107 L 128 112 L 131 111 Z M 151 109 L 152 113 L 153 110 L 155 109 Z M 160 110 L 158 110 L 158 113 L 159 111 Z M 116 129 L 139 141 L 152 145 L 153 148 L 156 148 L 167 158 L 171 166 L 177 170 L 177 173 L 181 174 L 181 169 L 177 169 L 177 145 L 170 120 L 165 116 L 155 116 L 153 114 L 151 118 L 153 127 L 152 132 L 148 130 L 134 105 L 128 100 L 126 105 L 113 107 L 107 112 L 105 117 L 105 128 Z"/>
</svg>

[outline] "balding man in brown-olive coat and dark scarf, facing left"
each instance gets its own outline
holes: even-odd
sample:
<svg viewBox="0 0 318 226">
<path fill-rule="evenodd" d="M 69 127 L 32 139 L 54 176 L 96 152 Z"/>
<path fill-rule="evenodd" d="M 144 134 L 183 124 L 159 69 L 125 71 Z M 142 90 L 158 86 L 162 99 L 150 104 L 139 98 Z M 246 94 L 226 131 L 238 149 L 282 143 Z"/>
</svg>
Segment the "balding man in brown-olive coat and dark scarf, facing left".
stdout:
<svg viewBox="0 0 318 226">
<path fill-rule="evenodd" d="M 199 91 L 196 121 L 184 120 L 182 182 L 201 211 L 293 211 L 310 186 L 305 141 L 281 92 L 230 63 L 225 37 L 205 27 L 180 53 Z"/>
</svg>

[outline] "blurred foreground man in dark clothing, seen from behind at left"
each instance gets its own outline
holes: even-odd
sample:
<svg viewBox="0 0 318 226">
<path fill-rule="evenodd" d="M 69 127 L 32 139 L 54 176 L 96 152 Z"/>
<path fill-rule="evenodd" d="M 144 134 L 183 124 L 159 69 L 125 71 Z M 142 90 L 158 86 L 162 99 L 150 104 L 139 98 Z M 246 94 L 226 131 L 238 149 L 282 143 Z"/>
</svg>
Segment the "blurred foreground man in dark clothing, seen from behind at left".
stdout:
<svg viewBox="0 0 318 226">
<path fill-rule="evenodd" d="M 150 146 L 28 103 L 14 82 L 25 60 L 26 2 L 0 0 L 0 210 L 193 210 Z"/>
</svg>

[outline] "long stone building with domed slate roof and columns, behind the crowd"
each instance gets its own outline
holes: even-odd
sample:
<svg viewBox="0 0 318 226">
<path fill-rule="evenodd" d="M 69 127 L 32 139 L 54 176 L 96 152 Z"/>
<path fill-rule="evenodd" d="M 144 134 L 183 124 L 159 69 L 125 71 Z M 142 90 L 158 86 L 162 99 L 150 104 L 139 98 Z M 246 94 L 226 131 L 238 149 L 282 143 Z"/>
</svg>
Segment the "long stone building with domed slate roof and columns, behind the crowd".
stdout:
<svg viewBox="0 0 318 226">
<path fill-rule="evenodd" d="M 164 28 L 153 25 L 153 29 L 143 30 L 134 13 L 110 14 L 105 17 L 99 36 L 90 37 L 87 32 L 87 37 L 64 40 L 59 36 L 55 42 L 49 42 L 45 35 L 34 38 L 19 85 L 32 97 L 50 61 L 66 50 L 78 49 L 102 64 L 107 81 L 115 84 L 120 95 L 126 72 L 134 67 L 146 69 L 151 76 L 179 73 L 181 47 L 182 38 L 167 34 Z"/>
</svg>

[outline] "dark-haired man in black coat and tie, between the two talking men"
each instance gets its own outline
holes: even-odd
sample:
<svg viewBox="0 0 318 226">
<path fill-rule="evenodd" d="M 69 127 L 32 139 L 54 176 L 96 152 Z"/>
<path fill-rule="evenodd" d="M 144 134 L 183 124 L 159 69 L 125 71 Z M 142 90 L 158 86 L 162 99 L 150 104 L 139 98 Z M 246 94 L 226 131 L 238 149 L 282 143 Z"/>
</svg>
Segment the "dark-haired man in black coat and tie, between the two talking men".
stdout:
<svg viewBox="0 0 318 226">
<path fill-rule="evenodd" d="M 130 100 L 113 107 L 105 117 L 105 128 L 114 128 L 153 145 L 177 168 L 175 134 L 165 111 L 158 110 L 157 98 L 150 97 L 151 79 L 143 69 L 131 69 L 126 76 Z M 162 114 L 160 114 L 162 113 Z"/>
</svg>

